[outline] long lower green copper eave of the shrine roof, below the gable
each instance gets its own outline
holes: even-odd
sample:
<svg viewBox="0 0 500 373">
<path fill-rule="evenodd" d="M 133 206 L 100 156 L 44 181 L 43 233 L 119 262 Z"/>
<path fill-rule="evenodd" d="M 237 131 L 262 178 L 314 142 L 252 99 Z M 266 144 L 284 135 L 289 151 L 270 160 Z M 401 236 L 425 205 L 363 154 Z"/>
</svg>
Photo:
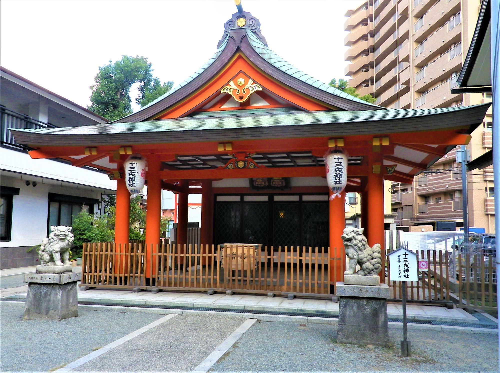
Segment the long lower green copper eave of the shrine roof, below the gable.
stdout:
<svg viewBox="0 0 500 373">
<path fill-rule="evenodd" d="M 489 104 L 442 107 L 432 109 L 387 109 L 387 110 L 359 110 L 359 111 L 284 111 L 271 113 L 241 113 L 243 110 L 231 110 L 230 116 L 186 116 L 183 118 L 148 120 L 141 122 L 123 123 L 103 123 L 93 125 L 83 125 L 78 127 L 62 128 L 34 128 L 34 129 L 14 129 L 12 132 L 26 132 L 50 135 L 87 135 L 87 134 L 117 134 L 117 133 L 145 133 L 145 132 L 169 132 L 169 131 L 195 131 L 206 129 L 231 129 L 231 128 L 258 128 L 276 126 L 296 126 L 312 124 L 333 124 L 339 123 L 344 127 L 346 123 L 352 122 L 376 122 L 382 120 L 397 120 L 418 118 L 421 116 L 458 113 L 460 111 L 470 111 Z M 484 109 L 486 110 L 486 109 Z M 227 110 L 229 111 L 229 110 Z M 237 115 L 237 117 L 235 117 Z M 411 123 L 410 123 L 411 125 Z M 456 127 L 463 126 L 463 123 L 456 121 Z M 418 127 L 412 128 L 418 130 Z M 391 132 L 391 128 L 386 128 Z M 353 133 L 354 134 L 354 133 Z M 17 136 L 16 136 L 17 137 Z M 17 140 L 17 139 L 16 139 Z M 19 142 L 19 141 L 18 141 Z M 21 142 L 22 143 L 22 142 Z"/>
</svg>

